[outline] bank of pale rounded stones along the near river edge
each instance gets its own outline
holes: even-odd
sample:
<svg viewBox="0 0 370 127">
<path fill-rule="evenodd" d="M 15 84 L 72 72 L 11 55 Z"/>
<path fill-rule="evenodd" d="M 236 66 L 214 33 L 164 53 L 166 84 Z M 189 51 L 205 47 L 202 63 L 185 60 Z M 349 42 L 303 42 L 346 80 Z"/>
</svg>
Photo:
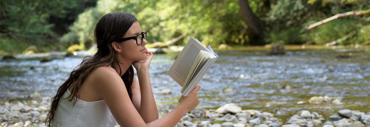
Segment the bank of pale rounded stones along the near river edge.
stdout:
<svg viewBox="0 0 370 127">
<path fill-rule="evenodd" d="M 50 97 L 39 93 L 30 100 L 0 102 L 0 127 L 44 127 L 44 120 L 50 107 Z M 174 104 L 158 105 L 159 114 L 174 109 Z M 243 110 L 236 104 L 225 104 L 218 109 L 206 110 L 196 107 L 185 114 L 177 127 L 370 127 L 370 112 L 343 109 L 337 114 L 324 118 L 316 112 L 298 111 L 286 123 L 274 114 L 258 110 Z M 116 127 L 119 127 L 118 124 Z"/>
</svg>

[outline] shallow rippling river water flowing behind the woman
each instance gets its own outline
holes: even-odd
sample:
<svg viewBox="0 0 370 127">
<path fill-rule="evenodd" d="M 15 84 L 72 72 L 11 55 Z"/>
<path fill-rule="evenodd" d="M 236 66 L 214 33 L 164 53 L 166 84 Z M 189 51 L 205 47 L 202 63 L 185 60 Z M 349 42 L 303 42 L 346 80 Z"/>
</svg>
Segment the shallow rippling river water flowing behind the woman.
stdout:
<svg viewBox="0 0 370 127">
<path fill-rule="evenodd" d="M 257 49 L 257 50 L 255 50 Z M 257 48 L 217 51 L 218 60 L 199 83 L 199 105 L 215 109 L 236 103 L 243 109 L 268 111 L 286 119 L 297 111 L 316 111 L 324 116 L 340 109 L 370 111 L 369 49 L 288 50 L 285 55 L 265 55 Z M 158 104 L 176 104 L 181 87 L 167 71 L 177 54 L 155 54 L 149 67 Z M 83 56 L 0 61 L 0 100 L 30 99 L 34 92 L 55 95 Z M 233 92 L 223 93 L 226 88 Z M 157 95 L 171 89 L 170 95 Z M 309 103 L 313 96 L 339 98 L 339 103 Z"/>
</svg>

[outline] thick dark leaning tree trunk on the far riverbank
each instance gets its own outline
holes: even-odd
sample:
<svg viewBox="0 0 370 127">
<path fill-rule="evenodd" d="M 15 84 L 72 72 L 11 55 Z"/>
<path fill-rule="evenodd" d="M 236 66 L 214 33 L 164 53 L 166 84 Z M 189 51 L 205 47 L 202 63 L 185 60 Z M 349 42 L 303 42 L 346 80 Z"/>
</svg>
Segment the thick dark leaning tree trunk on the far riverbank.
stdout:
<svg viewBox="0 0 370 127">
<path fill-rule="evenodd" d="M 245 24 L 248 26 L 248 30 L 252 32 L 254 40 L 253 43 L 258 43 L 263 41 L 263 30 L 264 24 L 259 18 L 253 13 L 252 9 L 249 7 L 248 0 L 239 0 L 240 13 Z"/>
</svg>

